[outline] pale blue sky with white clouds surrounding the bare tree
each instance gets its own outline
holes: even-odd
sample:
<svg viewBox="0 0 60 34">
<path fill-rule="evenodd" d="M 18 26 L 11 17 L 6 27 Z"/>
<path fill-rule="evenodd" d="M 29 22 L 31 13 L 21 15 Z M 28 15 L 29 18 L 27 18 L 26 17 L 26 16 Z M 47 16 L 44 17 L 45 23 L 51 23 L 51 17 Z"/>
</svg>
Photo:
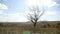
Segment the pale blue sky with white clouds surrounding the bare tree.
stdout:
<svg viewBox="0 0 60 34">
<path fill-rule="evenodd" d="M 0 22 L 26 22 L 29 7 L 38 6 L 42 21 L 60 21 L 60 0 L 0 0 Z"/>
</svg>

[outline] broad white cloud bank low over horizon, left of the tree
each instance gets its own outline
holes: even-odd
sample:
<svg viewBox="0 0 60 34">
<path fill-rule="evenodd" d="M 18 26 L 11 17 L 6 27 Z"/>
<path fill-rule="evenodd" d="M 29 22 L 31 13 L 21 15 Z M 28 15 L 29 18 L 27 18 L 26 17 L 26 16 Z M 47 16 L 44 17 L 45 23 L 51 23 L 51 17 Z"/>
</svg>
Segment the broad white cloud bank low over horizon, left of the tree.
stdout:
<svg viewBox="0 0 60 34">
<path fill-rule="evenodd" d="M 0 16 L 0 22 L 26 22 L 27 19 L 19 13 L 3 14 Z"/>
</svg>

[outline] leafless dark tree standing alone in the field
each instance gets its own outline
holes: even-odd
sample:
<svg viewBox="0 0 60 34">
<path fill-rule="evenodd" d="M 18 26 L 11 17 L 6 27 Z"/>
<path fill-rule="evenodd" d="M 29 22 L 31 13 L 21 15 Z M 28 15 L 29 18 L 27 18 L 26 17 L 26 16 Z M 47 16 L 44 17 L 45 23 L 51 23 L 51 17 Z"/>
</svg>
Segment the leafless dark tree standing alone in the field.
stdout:
<svg viewBox="0 0 60 34">
<path fill-rule="evenodd" d="M 29 10 L 32 13 L 28 14 L 28 20 L 30 20 L 33 23 L 34 34 L 35 34 L 36 23 L 38 23 L 38 20 L 43 15 L 44 11 L 40 11 L 38 7 L 32 7 L 32 8 L 29 8 Z"/>
</svg>

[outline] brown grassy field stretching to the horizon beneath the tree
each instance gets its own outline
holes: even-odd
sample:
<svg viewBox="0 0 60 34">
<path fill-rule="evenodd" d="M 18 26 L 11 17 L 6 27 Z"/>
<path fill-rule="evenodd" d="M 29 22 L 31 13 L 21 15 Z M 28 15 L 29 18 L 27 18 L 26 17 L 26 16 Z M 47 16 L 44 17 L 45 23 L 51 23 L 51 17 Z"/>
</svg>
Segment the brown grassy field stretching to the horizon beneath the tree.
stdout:
<svg viewBox="0 0 60 34">
<path fill-rule="evenodd" d="M 0 34 L 33 34 L 34 26 L 30 22 L 0 23 Z M 37 23 L 36 34 L 60 34 L 60 21 L 42 21 Z"/>
</svg>

